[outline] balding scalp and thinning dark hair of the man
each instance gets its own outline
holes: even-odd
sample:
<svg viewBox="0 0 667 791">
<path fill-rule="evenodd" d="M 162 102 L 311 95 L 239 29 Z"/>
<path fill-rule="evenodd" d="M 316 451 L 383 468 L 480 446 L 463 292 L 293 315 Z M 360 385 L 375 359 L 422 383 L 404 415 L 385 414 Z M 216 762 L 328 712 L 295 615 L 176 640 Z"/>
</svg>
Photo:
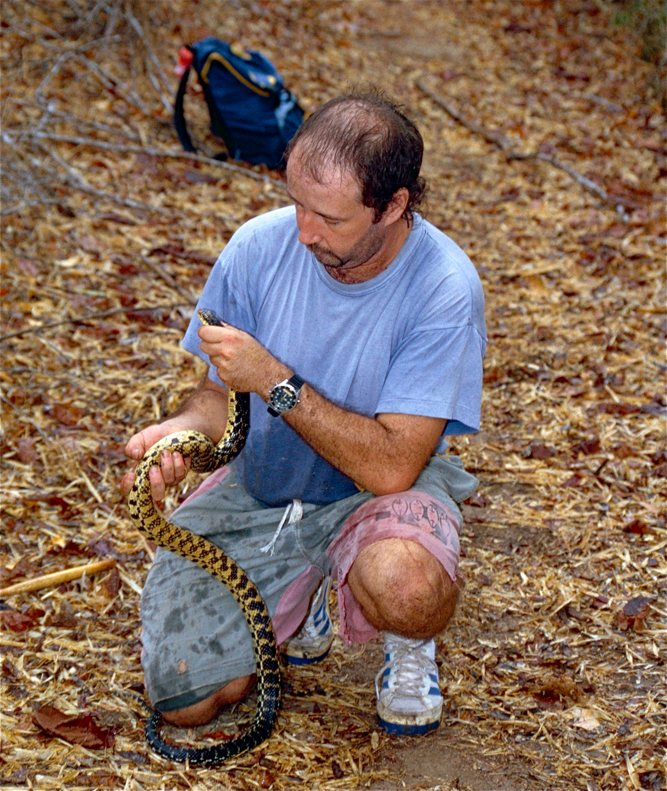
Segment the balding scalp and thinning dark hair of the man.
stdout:
<svg viewBox="0 0 667 791">
<path fill-rule="evenodd" d="M 307 118 L 290 142 L 286 159 L 323 183 L 332 174 L 352 176 L 364 206 L 382 217 L 401 188 L 409 191 L 405 217 L 419 206 L 426 184 L 419 175 L 424 143 L 398 106 L 379 92 L 332 99 Z"/>
</svg>

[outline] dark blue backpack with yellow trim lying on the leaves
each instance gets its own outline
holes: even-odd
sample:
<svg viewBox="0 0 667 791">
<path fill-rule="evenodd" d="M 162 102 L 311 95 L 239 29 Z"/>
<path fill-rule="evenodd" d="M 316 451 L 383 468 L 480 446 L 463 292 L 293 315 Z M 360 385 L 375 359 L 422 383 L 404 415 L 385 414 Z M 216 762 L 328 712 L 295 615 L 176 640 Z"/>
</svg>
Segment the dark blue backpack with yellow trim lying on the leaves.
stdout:
<svg viewBox="0 0 667 791">
<path fill-rule="evenodd" d="M 190 66 L 209 105 L 211 131 L 224 139 L 228 156 L 278 168 L 288 142 L 303 121 L 296 97 L 283 86 L 273 64 L 258 52 L 209 37 L 181 47 L 177 74 L 182 74 L 174 105 L 174 125 L 181 145 L 194 151 L 183 115 Z"/>
</svg>

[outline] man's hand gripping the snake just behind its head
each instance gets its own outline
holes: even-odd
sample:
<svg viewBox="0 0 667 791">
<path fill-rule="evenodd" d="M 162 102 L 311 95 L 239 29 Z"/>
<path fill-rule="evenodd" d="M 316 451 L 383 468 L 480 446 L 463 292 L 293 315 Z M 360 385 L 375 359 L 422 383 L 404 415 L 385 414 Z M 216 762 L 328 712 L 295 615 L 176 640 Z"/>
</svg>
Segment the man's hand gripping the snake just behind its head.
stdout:
<svg viewBox="0 0 667 791">
<path fill-rule="evenodd" d="M 292 370 L 273 357 L 259 341 L 243 330 L 202 325 L 200 349 L 209 355 L 220 380 L 237 392 L 255 392 L 263 399 L 277 382 L 292 376 Z"/>
</svg>

